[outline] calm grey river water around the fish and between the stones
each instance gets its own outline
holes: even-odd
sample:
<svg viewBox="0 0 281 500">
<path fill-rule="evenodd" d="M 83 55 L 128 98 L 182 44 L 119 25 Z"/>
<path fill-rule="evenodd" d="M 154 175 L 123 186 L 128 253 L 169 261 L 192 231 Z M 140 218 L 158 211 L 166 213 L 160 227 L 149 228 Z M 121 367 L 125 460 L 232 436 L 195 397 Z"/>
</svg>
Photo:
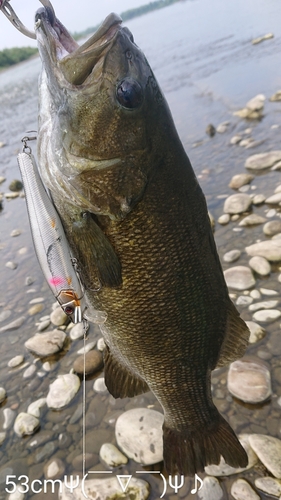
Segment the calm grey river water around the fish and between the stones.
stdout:
<svg viewBox="0 0 281 500">
<path fill-rule="evenodd" d="M 281 103 L 268 101 L 281 88 L 280 11 L 279 0 L 187 0 L 126 23 L 134 34 L 136 43 L 146 54 L 166 95 L 179 135 L 215 219 L 223 213 L 224 200 L 221 195 L 232 194 L 228 183 L 232 175 L 244 172 L 246 158 L 253 153 L 280 148 Z M 258 45 L 251 44 L 253 38 L 268 32 L 274 33 L 274 38 Z M 21 148 L 21 137 L 28 130 L 37 128 L 39 71 L 40 60 L 35 57 L 0 73 L 0 141 L 5 144 L 0 149 L 0 176 L 6 178 L 0 186 L 3 193 L 9 191 L 8 186 L 13 179 L 20 177 L 16 154 Z M 242 108 L 249 99 L 260 93 L 266 96 L 264 118 L 261 121 L 246 122 L 233 116 L 235 110 Z M 229 125 L 224 134 L 217 133 L 210 138 L 205 133 L 208 124 L 218 126 L 226 121 Z M 251 150 L 230 146 L 230 138 L 249 127 L 260 145 Z M 279 183 L 278 172 L 260 174 L 255 179 L 257 192 L 266 196 L 272 194 L 275 185 Z M 264 208 L 257 209 L 257 213 L 262 212 Z M 10 236 L 15 229 L 20 230 L 20 235 Z M 262 239 L 263 234 L 260 227 L 235 232 L 232 226 L 222 227 L 217 224 L 215 238 L 222 256 L 225 251 L 233 248 L 243 250 L 257 238 Z M 7 268 L 5 264 L 8 261 L 16 262 L 17 268 Z M 247 264 L 245 252 L 239 264 Z M 279 293 L 278 266 L 273 271 L 269 278 L 257 280 L 257 287 L 275 288 Z M 27 277 L 31 277 L 33 281 L 30 287 L 25 285 Z M 41 296 L 44 297 L 43 312 L 35 316 L 28 314 L 29 301 Z M 23 378 L 23 370 L 7 369 L 8 361 L 17 354 L 24 354 L 25 361 L 29 364 L 34 362 L 34 357 L 25 350 L 24 342 L 35 333 L 35 323 L 50 312 L 52 303 L 53 297 L 44 282 L 33 251 L 25 201 L 22 197 L 4 199 L 3 209 L 0 211 L 0 313 L 9 310 L 11 314 L 0 322 L 0 327 L 20 316 L 25 316 L 26 320 L 18 330 L 0 334 L 0 385 L 8 393 L 0 412 L 4 408 L 12 408 L 16 412 L 26 411 L 31 401 L 46 397 L 49 384 L 58 373 L 66 373 L 72 366 L 75 353 L 81 347 L 78 344 L 73 349 L 68 346 L 63 356 L 54 359 L 52 372 L 43 373 L 42 363 L 37 360 L 39 375 L 35 374 L 32 380 Z M 248 311 L 241 312 L 244 319 L 251 319 Z M 280 327 L 275 322 L 266 329 L 265 340 L 258 346 L 251 346 L 249 353 L 257 355 L 259 351 L 263 351 L 268 354 L 265 357 L 273 379 L 271 400 L 259 407 L 243 405 L 233 400 L 225 387 L 227 370 L 222 370 L 215 390 L 215 396 L 218 396 L 215 397 L 215 402 L 237 432 L 260 432 L 280 437 L 281 409 L 276 404 L 276 398 L 281 396 L 281 352 L 278 348 L 275 353 L 272 349 L 268 350 L 270 336 L 280 332 Z M 92 336 L 95 334 L 96 330 L 93 329 Z M 112 415 L 117 415 L 124 409 L 155 403 L 150 394 L 132 400 L 115 401 L 108 396 L 94 395 L 92 385 L 93 380 L 88 380 L 87 404 L 92 402 L 96 414 L 100 415 L 91 431 L 96 433 L 97 442 L 98 435 L 114 441 L 114 427 L 110 424 Z M 43 431 L 49 432 L 50 441 L 54 443 L 59 433 L 66 433 L 68 436 L 67 448 L 57 450 L 54 445 L 53 455 L 67 463 L 66 473 L 69 474 L 72 473 L 71 460 L 67 458 L 69 453 L 74 457 L 75 449 L 79 447 L 81 452 L 81 421 L 69 424 L 70 427 L 66 427 L 65 422 L 69 421 L 70 415 L 81 403 L 81 397 L 80 392 L 69 409 L 57 414 L 45 411 L 40 419 L 41 430 L 38 435 Z M 1 425 L 2 413 L 0 419 Z M 48 455 L 46 452 L 46 456 L 43 454 L 41 458 L 35 457 L 34 451 L 28 447 L 29 441 L 30 438 L 16 437 L 12 428 L 7 431 L 0 448 L 0 498 L 6 498 L 4 487 L 7 474 L 30 474 L 39 479 L 42 477 L 44 464 L 52 453 Z M 89 451 L 96 456 L 95 466 L 103 467 L 99 464 L 96 448 L 97 446 Z M 135 470 L 136 464 L 130 461 L 126 471 L 133 474 Z M 126 471 L 121 473 L 126 474 Z M 251 481 L 255 474 L 257 473 L 248 472 L 239 477 L 246 477 Z M 158 479 L 153 476 L 148 478 L 147 475 L 143 478 L 151 485 L 149 498 L 158 498 L 162 491 Z M 222 481 L 225 499 L 230 498 L 231 481 L 233 478 Z M 170 489 L 165 498 L 194 498 L 188 491 L 185 488 L 176 495 Z M 26 495 L 25 498 L 31 496 L 29 492 L 29 496 Z M 38 494 L 34 498 L 41 497 Z"/>
</svg>

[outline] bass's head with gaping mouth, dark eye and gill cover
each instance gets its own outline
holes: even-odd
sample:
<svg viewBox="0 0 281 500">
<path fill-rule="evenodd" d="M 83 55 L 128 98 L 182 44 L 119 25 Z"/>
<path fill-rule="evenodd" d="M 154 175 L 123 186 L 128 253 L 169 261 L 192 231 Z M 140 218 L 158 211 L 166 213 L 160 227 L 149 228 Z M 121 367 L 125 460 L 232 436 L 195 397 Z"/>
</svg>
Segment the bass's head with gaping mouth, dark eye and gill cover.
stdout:
<svg viewBox="0 0 281 500">
<path fill-rule="evenodd" d="M 116 14 L 79 46 L 48 8 L 39 9 L 36 36 L 44 181 L 84 210 L 122 218 L 143 196 L 165 128 L 153 72 Z"/>
</svg>

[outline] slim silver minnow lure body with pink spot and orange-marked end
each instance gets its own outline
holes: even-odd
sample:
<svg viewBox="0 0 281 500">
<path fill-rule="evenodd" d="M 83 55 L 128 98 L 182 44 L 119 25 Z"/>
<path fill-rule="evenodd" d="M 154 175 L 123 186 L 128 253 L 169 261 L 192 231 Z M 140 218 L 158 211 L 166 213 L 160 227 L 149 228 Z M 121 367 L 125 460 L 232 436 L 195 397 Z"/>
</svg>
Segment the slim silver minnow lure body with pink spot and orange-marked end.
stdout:
<svg viewBox="0 0 281 500">
<path fill-rule="evenodd" d="M 83 320 L 84 292 L 64 229 L 40 178 L 31 152 L 18 155 L 35 252 L 43 274 L 63 311 L 73 323 Z"/>
</svg>

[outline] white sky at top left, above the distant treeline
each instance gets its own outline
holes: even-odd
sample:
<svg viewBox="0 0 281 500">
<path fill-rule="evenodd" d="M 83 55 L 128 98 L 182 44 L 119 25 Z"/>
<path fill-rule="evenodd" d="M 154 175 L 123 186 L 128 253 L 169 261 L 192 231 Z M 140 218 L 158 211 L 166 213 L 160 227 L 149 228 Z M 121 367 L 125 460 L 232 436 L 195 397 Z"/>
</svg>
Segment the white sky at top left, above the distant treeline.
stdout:
<svg viewBox="0 0 281 500">
<path fill-rule="evenodd" d="M 83 31 L 96 26 L 110 12 L 125 10 L 149 3 L 149 0 L 52 0 L 58 19 L 71 31 Z M 33 31 L 34 15 L 42 7 L 39 0 L 10 0 L 21 22 Z M 9 47 L 36 46 L 36 41 L 20 33 L 0 11 L 0 50 Z"/>
</svg>

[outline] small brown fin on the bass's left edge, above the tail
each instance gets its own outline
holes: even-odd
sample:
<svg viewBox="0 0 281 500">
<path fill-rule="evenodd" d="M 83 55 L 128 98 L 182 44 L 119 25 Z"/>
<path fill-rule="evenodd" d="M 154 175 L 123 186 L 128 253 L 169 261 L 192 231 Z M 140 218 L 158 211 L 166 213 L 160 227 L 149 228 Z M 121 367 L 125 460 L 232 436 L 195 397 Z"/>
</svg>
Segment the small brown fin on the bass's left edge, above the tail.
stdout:
<svg viewBox="0 0 281 500">
<path fill-rule="evenodd" d="M 131 398 L 149 391 L 147 383 L 123 366 L 108 346 L 103 351 L 104 380 L 114 398 Z"/>
</svg>

